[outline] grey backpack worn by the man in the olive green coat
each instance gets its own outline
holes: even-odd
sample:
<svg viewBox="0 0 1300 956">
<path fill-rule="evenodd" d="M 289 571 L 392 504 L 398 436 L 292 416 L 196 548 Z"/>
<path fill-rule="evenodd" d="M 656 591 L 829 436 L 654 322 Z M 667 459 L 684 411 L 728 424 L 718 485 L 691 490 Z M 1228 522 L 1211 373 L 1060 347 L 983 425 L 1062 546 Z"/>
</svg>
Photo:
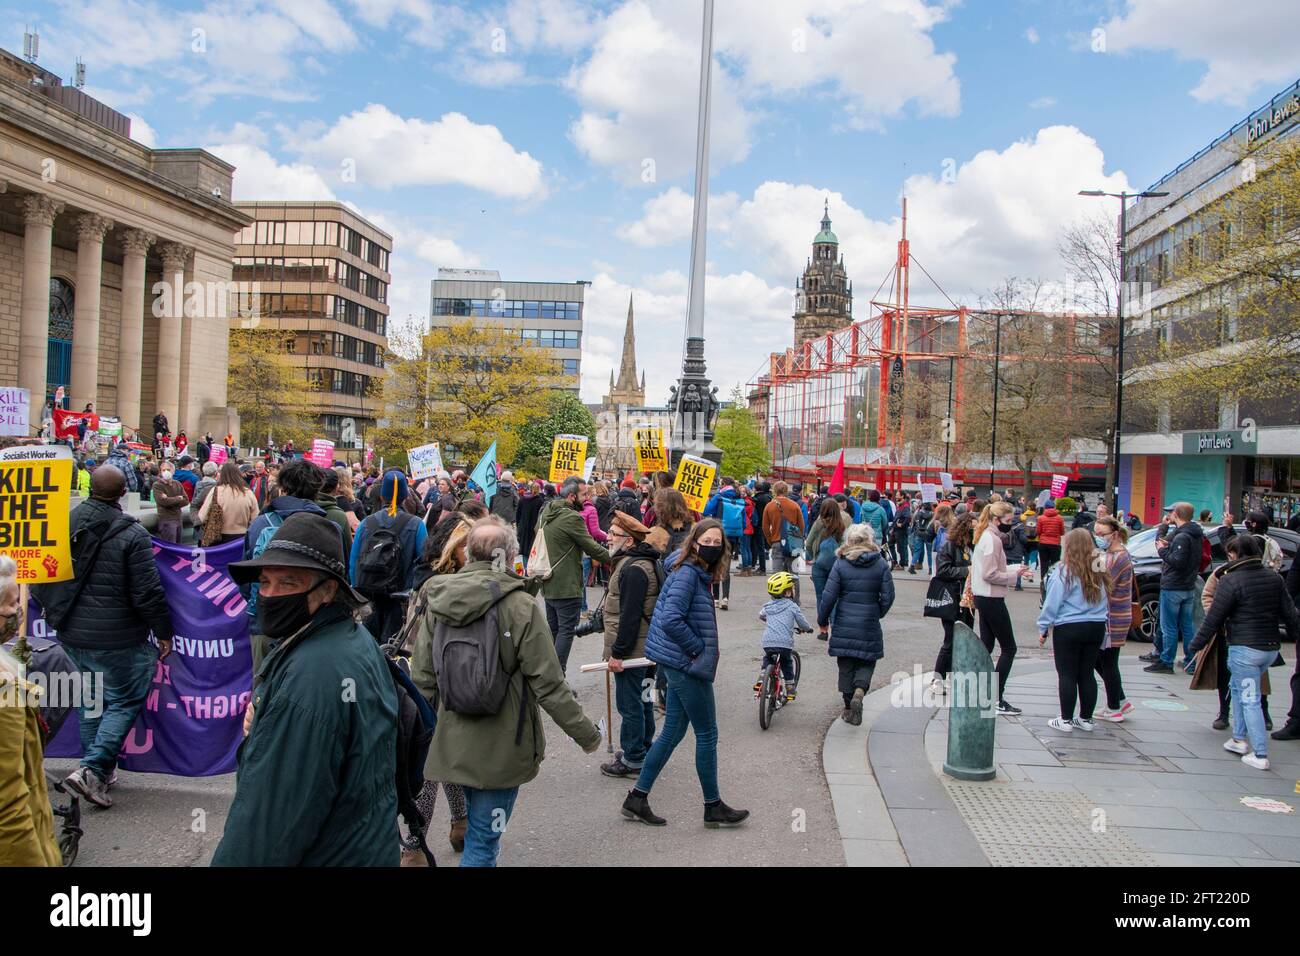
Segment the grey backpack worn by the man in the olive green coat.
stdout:
<svg viewBox="0 0 1300 956">
<path fill-rule="evenodd" d="M 488 581 L 493 602 L 486 613 L 464 627 L 437 619 L 433 628 L 433 670 L 438 678 L 438 696 L 442 706 L 454 714 L 484 717 L 500 711 L 511 675 L 500 666 L 500 641 L 511 640 L 502 633 L 497 607 L 503 594 L 494 580 Z M 524 705 L 528 700 L 528 682 L 524 682 Z M 523 706 L 520 730 L 523 730 Z"/>
</svg>

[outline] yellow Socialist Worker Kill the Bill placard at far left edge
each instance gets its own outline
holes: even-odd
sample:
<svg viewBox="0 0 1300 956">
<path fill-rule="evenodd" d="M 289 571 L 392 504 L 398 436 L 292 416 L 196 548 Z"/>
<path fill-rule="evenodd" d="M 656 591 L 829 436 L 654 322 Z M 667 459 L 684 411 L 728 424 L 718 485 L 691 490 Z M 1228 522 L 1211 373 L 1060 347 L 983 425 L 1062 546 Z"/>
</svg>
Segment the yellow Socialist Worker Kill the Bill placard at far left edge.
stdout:
<svg viewBox="0 0 1300 956">
<path fill-rule="evenodd" d="M 18 566 L 18 584 L 73 578 L 68 535 L 70 460 L 0 462 L 0 554 Z"/>
</svg>

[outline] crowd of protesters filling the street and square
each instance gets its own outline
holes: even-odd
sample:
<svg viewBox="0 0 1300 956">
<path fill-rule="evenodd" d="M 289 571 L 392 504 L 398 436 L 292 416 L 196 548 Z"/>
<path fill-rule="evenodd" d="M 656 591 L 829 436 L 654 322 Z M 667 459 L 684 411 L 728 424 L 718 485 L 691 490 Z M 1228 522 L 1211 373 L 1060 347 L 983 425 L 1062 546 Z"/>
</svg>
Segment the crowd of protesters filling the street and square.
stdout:
<svg viewBox="0 0 1300 956">
<path fill-rule="evenodd" d="M 220 463 L 211 434 L 196 442 L 195 459 L 165 416 L 153 424 L 151 455 L 133 462 L 117 446 L 98 464 L 78 462 L 86 502 L 73 531 L 94 544 L 74 551 L 74 581 L 43 585 L 34 597 L 75 666 L 109 675 L 112 693 L 101 715 L 82 719 L 84 757 L 65 780 L 109 808 L 124 739 L 172 640 L 150 533 L 122 501 L 131 492 L 152 501 L 160 540 L 242 542 L 229 568 L 247 597 L 254 691 L 213 865 L 426 865 L 439 790 L 462 865 L 495 865 L 519 791 L 541 770 L 542 711 L 586 753 L 601 744 L 567 676 L 586 633 L 601 635 L 612 674 L 620 726 L 608 732 L 620 747 L 599 771 L 632 784 L 621 814 L 667 823 L 650 793 L 689 728 L 703 826 L 742 825 L 749 812 L 722 796 L 714 688 L 733 578 L 771 574 L 763 650 L 780 659 L 785 702 L 796 700 L 793 633 L 811 630 L 815 615 L 816 639 L 836 659 L 840 718 L 857 726 L 901 572 L 930 579 L 914 606 L 942 626 L 931 689 L 950 689 L 961 623 L 997 653 L 996 713 L 1020 715 L 1005 693 L 1018 649 L 1008 597 L 1036 570 L 1037 632 L 1040 645 L 1052 641 L 1060 689 L 1061 713 L 1049 726 L 1092 732 L 1095 721 L 1132 717 L 1119 672 L 1139 601 L 1126 548 L 1132 520 L 1104 506 L 1065 511 L 1013 494 L 831 494 L 720 475 L 697 512 L 667 472 L 547 483 L 507 470 L 489 496 L 460 470 L 415 479 L 402 468 L 321 468 L 287 445 L 246 460 L 229 436 Z M 1206 581 L 1200 524 L 1190 505 L 1170 507 L 1157 545 L 1161 627 L 1148 670 L 1171 671 L 1182 640 L 1180 663 L 1196 670 L 1199 685 L 1219 689 L 1216 727 L 1231 724 L 1225 748 L 1266 769 L 1268 669 L 1279 627 L 1292 639 L 1300 631 L 1300 575 L 1278 574 L 1266 516 L 1252 514 L 1244 531 L 1225 523 L 1230 561 Z M 598 604 L 588 604 L 589 588 L 603 591 Z M 486 656 L 486 672 L 458 657 L 467 646 Z M 433 715 L 422 784 L 411 793 L 395 783 L 408 701 L 390 672 L 394 656 L 410 658 L 411 685 Z M 5 679 L 14 678 L 0 667 Z M 341 701 L 341 682 L 352 682 L 351 700 Z M 1261 684 L 1262 695 L 1251 692 Z M 1300 737 L 1296 713 L 1274 737 Z M 44 839 L 36 832 L 39 852 L 25 858 L 52 858 Z"/>
</svg>

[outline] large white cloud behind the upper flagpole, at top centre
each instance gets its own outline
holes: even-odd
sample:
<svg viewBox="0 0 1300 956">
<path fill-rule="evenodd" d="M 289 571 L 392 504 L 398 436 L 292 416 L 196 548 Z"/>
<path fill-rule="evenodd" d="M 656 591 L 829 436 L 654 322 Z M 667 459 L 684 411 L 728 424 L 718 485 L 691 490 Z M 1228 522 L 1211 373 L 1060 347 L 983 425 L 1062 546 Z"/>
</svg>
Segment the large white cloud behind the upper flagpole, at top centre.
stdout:
<svg viewBox="0 0 1300 956">
<path fill-rule="evenodd" d="M 734 8 L 733 8 L 734 9 Z M 946 16 L 923 0 L 783 0 L 745 4 L 719 16 L 712 68 L 711 148 L 715 166 L 744 159 L 763 96 L 827 90 L 853 126 L 879 126 L 907 104 L 954 116 L 961 90 L 956 57 L 935 49 L 930 31 Z M 628 0 L 599 25 L 590 56 L 568 86 L 582 114 L 569 127 L 592 161 L 628 182 L 644 161 L 671 179 L 694 159 L 699 83 L 699 4 Z M 870 49 L 870 61 L 863 51 Z"/>
</svg>

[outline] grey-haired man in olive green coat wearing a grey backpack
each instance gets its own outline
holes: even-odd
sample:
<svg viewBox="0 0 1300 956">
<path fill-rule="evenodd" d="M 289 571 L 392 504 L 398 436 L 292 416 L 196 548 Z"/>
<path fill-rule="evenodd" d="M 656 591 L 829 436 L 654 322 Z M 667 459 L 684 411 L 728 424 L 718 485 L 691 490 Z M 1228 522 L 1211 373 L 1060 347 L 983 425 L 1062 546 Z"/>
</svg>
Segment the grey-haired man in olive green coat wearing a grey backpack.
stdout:
<svg viewBox="0 0 1300 956">
<path fill-rule="evenodd" d="M 546 756 L 542 709 L 586 753 L 601 747 L 601 731 L 564 680 L 528 583 L 504 570 L 515 566 L 517 554 L 515 533 L 500 518 L 474 524 L 465 538 L 468 563 L 459 574 L 438 575 L 425 584 L 429 610 L 411 658 L 416 687 L 430 702 L 438 700 L 438 730 L 429 747 L 425 779 L 456 783 L 465 791 L 469 829 L 462 866 L 497 865 L 500 835 L 519 788 L 537 777 Z M 495 714 L 452 713 L 438 695 L 433 659 L 437 624 L 468 627 L 494 604 L 500 670 L 510 675 L 506 697 Z"/>
</svg>

